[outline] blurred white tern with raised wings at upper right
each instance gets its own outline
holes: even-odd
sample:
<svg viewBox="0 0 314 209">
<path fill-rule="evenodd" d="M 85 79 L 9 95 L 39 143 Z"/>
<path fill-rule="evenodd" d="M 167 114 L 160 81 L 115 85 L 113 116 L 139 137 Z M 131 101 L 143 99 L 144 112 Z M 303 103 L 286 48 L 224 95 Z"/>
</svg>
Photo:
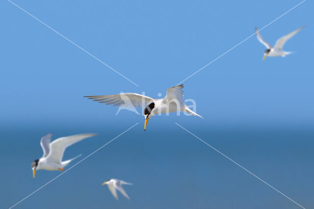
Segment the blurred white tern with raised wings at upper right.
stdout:
<svg viewBox="0 0 314 209">
<path fill-rule="evenodd" d="M 294 36 L 297 32 L 299 32 L 300 30 L 302 30 L 305 26 L 300 27 L 299 29 L 294 30 L 293 32 L 289 33 L 288 35 L 285 35 L 283 37 L 281 37 L 280 39 L 277 40 L 276 44 L 274 47 L 272 47 L 269 43 L 267 43 L 261 36 L 261 34 L 259 33 L 259 30 L 257 29 L 257 27 L 255 28 L 255 33 L 257 35 L 257 39 L 259 39 L 259 41 L 265 45 L 265 47 L 267 48 L 267 50 L 265 50 L 264 52 L 264 57 L 263 60 L 266 58 L 266 56 L 286 56 L 289 53 L 292 52 L 285 52 L 283 51 L 283 46 L 286 43 L 286 41 L 288 41 L 288 39 L 290 39 L 292 36 Z"/>
</svg>

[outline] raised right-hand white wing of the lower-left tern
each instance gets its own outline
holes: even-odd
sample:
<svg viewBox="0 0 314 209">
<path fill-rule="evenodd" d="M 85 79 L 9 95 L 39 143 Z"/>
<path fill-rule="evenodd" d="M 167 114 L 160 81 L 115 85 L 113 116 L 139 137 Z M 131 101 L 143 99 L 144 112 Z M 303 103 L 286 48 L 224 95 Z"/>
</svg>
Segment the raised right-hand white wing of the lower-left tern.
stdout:
<svg viewBox="0 0 314 209">
<path fill-rule="evenodd" d="M 55 163 L 61 163 L 63 153 L 70 145 L 85 138 L 95 136 L 95 133 L 85 133 L 72 136 L 61 137 L 50 143 L 50 153 L 47 158 Z"/>
</svg>

